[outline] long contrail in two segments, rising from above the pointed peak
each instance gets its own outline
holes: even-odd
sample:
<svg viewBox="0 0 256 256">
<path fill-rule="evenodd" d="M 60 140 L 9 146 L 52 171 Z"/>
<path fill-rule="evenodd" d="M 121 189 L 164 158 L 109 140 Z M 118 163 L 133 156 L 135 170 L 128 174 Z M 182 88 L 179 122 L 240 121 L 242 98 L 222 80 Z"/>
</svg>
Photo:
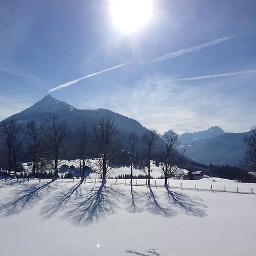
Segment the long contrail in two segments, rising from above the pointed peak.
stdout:
<svg viewBox="0 0 256 256">
<path fill-rule="evenodd" d="M 204 48 L 206 48 L 206 47 L 212 46 L 213 44 L 218 44 L 218 43 L 224 42 L 224 41 L 226 41 L 226 40 L 235 38 L 236 36 L 237 36 L 237 35 L 226 36 L 225 38 L 220 38 L 220 39 L 216 39 L 216 40 L 214 40 L 214 41 L 208 42 L 208 43 L 200 44 L 200 46 L 192 46 L 192 47 L 189 47 L 189 48 L 187 48 L 187 49 L 181 49 L 180 51 L 177 51 L 177 52 L 172 52 L 172 53 L 168 53 L 168 54 L 166 54 L 166 55 L 160 56 L 160 57 L 156 57 L 156 59 L 149 60 L 149 61 L 147 61 L 146 63 L 152 63 L 152 62 L 155 62 L 155 61 L 161 61 L 161 60 L 171 59 L 171 58 L 174 58 L 174 57 L 183 55 L 183 54 L 185 54 L 185 53 L 198 51 L 198 50 L 200 50 L 200 49 L 204 49 Z M 61 89 L 61 88 L 67 87 L 67 86 L 72 85 L 72 84 L 75 84 L 76 82 L 79 82 L 79 81 L 81 81 L 81 80 L 87 79 L 87 78 L 92 77 L 92 76 L 96 76 L 96 75 L 98 75 L 98 74 L 100 74 L 100 73 L 104 73 L 104 72 L 110 71 L 110 70 L 115 69 L 115 68 L 120 68 L 120 67 L 125 66 L 125 65 L 128 65 L 128 64 L 132 64 L 132 62 L 123 63 L 123 64 L 121 64 L 121 65 L 117 65 L 117 66 L 115 66 L 115 67 L 108 68 L 108 69 L 105 69 L 105 70 L 102 70 L 102 71 L 99 71 L 99 72 L 96 72 L 96 73 L 93 73 L 93 74 L 90 74 L 90 75 L 81 77 L 80 79 L 76 79 L 76 80 L 73 80 L 73 81 L 71 81 L 71 82 L 67 82 L 67 83 L 65 83 L 65 84 L 58 85 L 58 86 L 56 86 L 56 87 L 50 89 L 49 92 L 53 92 L 54 90 L 59 90 L 59 89 Z"/>
</svg>

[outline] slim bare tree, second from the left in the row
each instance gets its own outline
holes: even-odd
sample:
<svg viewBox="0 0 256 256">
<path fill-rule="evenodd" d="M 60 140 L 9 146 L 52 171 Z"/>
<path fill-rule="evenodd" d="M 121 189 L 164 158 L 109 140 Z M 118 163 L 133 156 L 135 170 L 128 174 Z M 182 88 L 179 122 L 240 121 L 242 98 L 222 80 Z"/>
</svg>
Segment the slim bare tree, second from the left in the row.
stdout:
<svg viewBox="0 0 256 256">
<path fill-rule="evenodd" d="M 30 152 L 32 155 L 32 176 L 39 170 L 39 150 L 42 143 L 42 125 L 36 125 L 34 121 L 27 123 L 27 135 L 31 140 Z"/>
</svg>

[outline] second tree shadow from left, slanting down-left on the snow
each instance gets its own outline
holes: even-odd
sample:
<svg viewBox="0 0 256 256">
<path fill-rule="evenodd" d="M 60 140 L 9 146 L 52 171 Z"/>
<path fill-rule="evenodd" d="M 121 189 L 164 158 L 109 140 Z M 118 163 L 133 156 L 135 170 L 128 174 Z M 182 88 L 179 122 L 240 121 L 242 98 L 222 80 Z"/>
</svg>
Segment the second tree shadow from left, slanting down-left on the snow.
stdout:
<svg viewBox="0 0 256 256">
<path fill-rule="evenodd" d="M 48 199 L 46 205 L 44 205 L 41 211 L 43 218 L 50 218 L 55 216 L 55 214 L 60 210 L 63 210 L 65 205 L 67 205 L 68 201 L 71 199 L 72 195 L 75 198 L 79 197 L 79 195 L 81 196 L 82 183 L 83 181 L 80 181 L 67 192 L 58 192 L 57 195 L 54 195 L 51 199 Z"/>
</svg>

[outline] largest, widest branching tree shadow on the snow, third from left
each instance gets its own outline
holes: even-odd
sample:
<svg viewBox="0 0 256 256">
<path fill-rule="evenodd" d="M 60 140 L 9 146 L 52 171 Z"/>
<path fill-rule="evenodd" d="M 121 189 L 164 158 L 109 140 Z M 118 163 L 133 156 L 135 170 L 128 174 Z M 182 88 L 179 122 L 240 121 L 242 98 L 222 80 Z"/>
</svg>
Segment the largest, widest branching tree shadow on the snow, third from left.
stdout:
<svg viewBox="0 0 256 256">
<path fill-rule="evenodd" d="M 74 200 L 64 217 L 77 225 L 88 225 L 100 221 L 108 214 L 114 214 L 125 195 L 113 186 L 101 183 L 100 187 L 88 188 L 88 192 Z"/>
</svg>

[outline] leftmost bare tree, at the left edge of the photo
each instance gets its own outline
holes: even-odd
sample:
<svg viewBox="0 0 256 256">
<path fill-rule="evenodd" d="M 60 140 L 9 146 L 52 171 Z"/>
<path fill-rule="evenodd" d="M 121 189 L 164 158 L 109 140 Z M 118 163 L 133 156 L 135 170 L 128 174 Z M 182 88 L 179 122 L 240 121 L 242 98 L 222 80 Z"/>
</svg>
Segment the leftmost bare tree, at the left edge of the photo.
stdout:
<svg viewBox="0 0 256 256">
<path fill-rule="evenodd" d="M 18 168 L 18 156 L 20 154 L 20 126 L 14 121 L 4 121 L 1 127 L 1 134 L 4 138 L 5 152 L 7 155 L 7 170 L 9 175 L 14 171 L 14 176 Z"/>
</svg>

